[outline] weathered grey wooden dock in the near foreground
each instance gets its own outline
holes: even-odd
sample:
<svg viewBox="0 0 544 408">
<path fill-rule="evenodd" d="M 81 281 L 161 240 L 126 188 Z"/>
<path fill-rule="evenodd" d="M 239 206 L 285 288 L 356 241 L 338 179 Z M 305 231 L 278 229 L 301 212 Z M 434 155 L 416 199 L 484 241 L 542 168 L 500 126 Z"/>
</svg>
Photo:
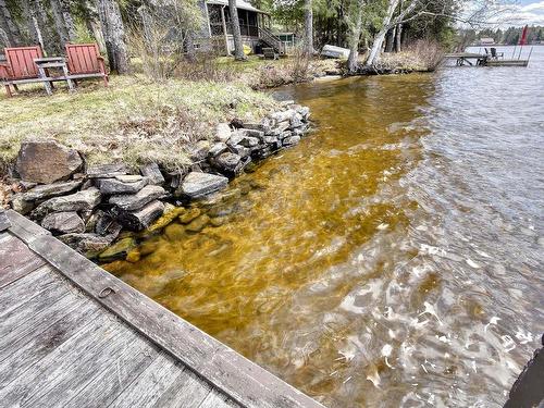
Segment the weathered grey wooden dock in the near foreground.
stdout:
<svg viewBox="0 0 544 408">
<path fill-rule="evenodd" d="M 1 407 L 323 407 L 0 209 Z"/>
</svg>

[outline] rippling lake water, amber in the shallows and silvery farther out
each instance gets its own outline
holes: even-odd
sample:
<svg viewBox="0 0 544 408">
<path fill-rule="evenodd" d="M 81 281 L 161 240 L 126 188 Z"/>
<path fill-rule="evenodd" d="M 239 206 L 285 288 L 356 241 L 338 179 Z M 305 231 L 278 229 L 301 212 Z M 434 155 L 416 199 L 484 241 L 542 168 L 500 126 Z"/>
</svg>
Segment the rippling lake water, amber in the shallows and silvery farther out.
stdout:
<svg viewBox="0 0 544 408">
<path fill-rule="evenodd" d="M 542 51 L 285 89 L 314 134 L 107 269 L 330 407 L 500 406 L 544 331 Z"/>
</svg>

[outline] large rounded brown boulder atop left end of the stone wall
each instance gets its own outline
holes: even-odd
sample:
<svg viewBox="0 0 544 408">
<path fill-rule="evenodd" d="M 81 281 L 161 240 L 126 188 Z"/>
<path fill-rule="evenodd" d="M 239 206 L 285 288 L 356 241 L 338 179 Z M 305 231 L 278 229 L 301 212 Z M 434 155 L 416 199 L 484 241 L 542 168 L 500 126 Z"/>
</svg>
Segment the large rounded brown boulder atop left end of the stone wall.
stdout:
<svg viewBox="0 0 544 408">
<path fill-rule="evenodd" d="M 69 178 L 83 165 L 77 150 L 54 140 L 23 141 L 15 170 L 25 182 L 49 184 Z"/>
</svg>

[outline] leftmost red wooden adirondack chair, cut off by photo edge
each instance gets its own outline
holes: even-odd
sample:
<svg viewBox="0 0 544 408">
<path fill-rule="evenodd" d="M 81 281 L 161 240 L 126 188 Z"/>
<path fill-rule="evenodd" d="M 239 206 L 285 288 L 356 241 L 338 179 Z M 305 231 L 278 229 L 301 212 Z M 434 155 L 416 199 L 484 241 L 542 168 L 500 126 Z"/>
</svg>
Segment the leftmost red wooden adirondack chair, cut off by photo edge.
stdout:
<svg viewBox="0 0 544 408">
<path fill-rule="evenodd" d="M 7 63 L 0 64 L 0 79 L 11 97 L 10 85 L 39 82 L 35 58 L 44 58 L 39 46 L 4 48 Z"/>
</svg>

